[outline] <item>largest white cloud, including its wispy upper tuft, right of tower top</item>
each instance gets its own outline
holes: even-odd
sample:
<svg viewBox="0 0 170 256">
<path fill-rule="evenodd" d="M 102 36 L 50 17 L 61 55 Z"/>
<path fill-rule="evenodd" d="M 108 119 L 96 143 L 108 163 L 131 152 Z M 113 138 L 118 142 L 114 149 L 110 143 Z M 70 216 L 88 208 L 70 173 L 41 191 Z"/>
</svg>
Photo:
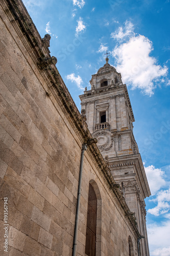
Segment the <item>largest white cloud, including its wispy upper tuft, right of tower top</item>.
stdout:
<svg viewBox="0 0 170 256">
<path fill-rule="evenodd" d="M 152 42 L 143 35 L 135 35 L 130 22 L 126 22 L 125 28 L 120 27 L 111 36 L 120 43 L 113 49 L 112 56 L 116 59 L 117 71 L 122 73 L 123 82 L 151 96 L 156 85 L 167 74 L 167 67 L 161 67 L 150 56 Z M 125 39 L 127 42 L 122 43 Z"/>
</svg>

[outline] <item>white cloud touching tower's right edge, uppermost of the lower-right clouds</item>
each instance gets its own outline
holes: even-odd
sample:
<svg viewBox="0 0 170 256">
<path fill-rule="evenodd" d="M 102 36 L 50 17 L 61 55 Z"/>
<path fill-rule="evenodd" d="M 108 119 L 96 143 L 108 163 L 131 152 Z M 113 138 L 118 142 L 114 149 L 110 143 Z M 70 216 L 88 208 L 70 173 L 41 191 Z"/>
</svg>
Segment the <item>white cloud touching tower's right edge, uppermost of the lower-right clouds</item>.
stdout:
<svg viewBox="0 0 170 256">
<path fill-rule="evenodd" d="M 153 165 L 150 165 L 148 167 L 144 166 L 144 170 L 147 175 L 151 194 L 155 195 L 157 191 L 166 183 L 163 179 L 164 172 L 161 169 L 155 168 L 155 166 Z"/>
</svg>

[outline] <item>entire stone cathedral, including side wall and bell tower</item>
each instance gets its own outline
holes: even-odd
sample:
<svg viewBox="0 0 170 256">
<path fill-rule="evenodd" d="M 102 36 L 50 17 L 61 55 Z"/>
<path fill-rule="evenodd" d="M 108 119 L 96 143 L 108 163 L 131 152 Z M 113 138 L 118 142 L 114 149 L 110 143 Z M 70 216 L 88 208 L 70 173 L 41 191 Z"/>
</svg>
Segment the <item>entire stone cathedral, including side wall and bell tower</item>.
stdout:
<svg viewBox="0 0 170 256">
<path fill-rule="evenodd" d="M 121 74 L 106 63 L 81 113 L 21 0 L 0 3 L 1 255 L 149 256 L 151 195 Z"/>
</svg>

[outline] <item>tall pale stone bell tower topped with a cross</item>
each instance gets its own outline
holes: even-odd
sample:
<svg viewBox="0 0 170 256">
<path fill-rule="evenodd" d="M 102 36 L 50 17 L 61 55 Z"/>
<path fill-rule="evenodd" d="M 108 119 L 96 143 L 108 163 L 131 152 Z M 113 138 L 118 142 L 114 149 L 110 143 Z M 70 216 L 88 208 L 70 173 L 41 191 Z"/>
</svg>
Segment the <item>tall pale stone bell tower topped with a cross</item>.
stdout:
<svg viewBox="0 0 170 256">
<path fill-rule="evenodd" d="M 141 256 L 149 256 L 144 198 L 151 195 L 138 146 L 133 135 L 135 121 L 126 84 L 108 63 L 92 75 L 91 90 L 80 95 L 81 113 L 88 129 L 98 139 L 98 147 L 114 180 L 119 183 L 125 200 L 134 213 L 141 237 Z M 141 239 L 143 238 L 144 239 Z"/>
</svg>

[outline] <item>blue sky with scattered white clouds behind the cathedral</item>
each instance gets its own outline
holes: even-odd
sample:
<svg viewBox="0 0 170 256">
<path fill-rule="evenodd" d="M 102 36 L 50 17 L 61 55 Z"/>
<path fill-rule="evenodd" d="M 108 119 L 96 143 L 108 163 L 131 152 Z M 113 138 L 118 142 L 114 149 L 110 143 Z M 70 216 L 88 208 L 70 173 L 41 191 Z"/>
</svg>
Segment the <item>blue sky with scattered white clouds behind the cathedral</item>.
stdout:
<svg viewBox="0 0 170 256">
<path fill-rule="evenodd" d="M 170 255 L 169 0 L 24 0 L 80 110 L 79 95 L 105 63 L 122 74 L 134 135 L 152 196 L 147 204 L 151 256 Z"/>
</svg>

